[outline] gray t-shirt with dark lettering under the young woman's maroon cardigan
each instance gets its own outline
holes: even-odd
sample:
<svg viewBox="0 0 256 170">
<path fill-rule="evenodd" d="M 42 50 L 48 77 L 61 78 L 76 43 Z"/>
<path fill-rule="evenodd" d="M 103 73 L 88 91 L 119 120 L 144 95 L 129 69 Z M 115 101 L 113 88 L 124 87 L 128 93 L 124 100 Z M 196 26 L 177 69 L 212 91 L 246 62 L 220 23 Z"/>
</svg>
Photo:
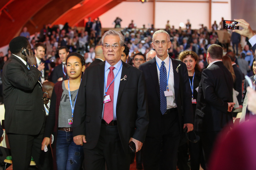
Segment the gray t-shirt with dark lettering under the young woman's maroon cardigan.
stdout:
<svg viewBox="0 0 256 170">
<path fill-rule="evenodd" d="M 61 95 L 61 100 L 60 100 L 59 119 L 58 119 L 59 127 L 72 127 L 72 124 L 71 125 L 68 124 L 68 119 L 72 118 L 72 110 L 71 110 L 71 105 L 69 100 L 69 93 L 65 87 L 64 81 L 62 82 L 62 89 L 63 89 L 63 93 Z M 74 91 L 70 91 L 73 107 L 74 107 L 74 102 L 76 100 L 77 92 L 78 92 L 78 89 Z"/>
</svg>

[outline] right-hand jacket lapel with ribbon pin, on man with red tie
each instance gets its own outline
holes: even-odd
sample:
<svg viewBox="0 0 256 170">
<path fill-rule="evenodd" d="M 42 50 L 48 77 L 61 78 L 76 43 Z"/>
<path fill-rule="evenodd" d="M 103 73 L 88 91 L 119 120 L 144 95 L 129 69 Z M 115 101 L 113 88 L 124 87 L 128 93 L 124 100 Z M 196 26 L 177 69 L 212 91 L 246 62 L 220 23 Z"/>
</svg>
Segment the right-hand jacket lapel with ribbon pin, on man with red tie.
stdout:
<svg viewBox="0 0 256 170">
<path fill-rule="evenodd" d="M 129 67 L 130 67 L 130 65 L 124 63 L 123 61 L 122 61 L 122 63 L 123 63 L 123 67 L 122 67 L 121 79 L 123 79 L 125 75 L 127 76 L 127 78 L 126 78 L 126 80 L 122 80 L 122 81 L 115 80 L 115 81 L 120 81 L 116 104 L 118 104 L 118 101 L 119 101 L 119 99 L 120 99 L 120 97 L 123 93 L 124 87 L 126 85 L 126 82 L 129 81 L 129 79 L 130 79 L 130 81 L 132 80 L 132 77 L 129 77 L 129 74 L 130 74 Z"/>
</svg>

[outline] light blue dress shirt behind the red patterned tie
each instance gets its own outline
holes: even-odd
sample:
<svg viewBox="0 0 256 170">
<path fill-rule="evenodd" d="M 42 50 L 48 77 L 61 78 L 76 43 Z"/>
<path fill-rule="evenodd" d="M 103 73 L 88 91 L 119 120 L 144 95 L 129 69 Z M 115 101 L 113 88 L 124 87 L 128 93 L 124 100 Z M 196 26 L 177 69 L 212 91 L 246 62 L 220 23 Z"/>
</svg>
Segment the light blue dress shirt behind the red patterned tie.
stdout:
<svg viewBox="0 0 256 170">
<path fill-rule="evenodd" d="M 109 71 L 110 71 L 110 69 L 109 69 L 110 67 L 111 67 L 111 65 L 106 61 L 105 69 L 104 69 L 104 71 L 105 71 L 104 95 L 105 95 L 105 90 L 107 88 L 106 86 L 107 86 L 107 82 L 108 82 L 108 74 L 109 74 Z M 120 84 L 121 73 L 122 73 L 122 68 L 123 68 L 122 61 L 119 60 L 118 63 L 116 63 L 114 65 L 114 67 L 115 67 L 115 69 L 113 70 L 113 73 L 114 73 L 114 76 L 115 76 L 115 81 L 113 82 L 114 83 L 113 120 L 116 120 L 116 102 L 117 102 L 119 84 Z M 119 69 L 120 69 L 120 71 L 119 71 Z M 102 119 L 103 119 L 103 113 L 104 113 L 104 106 L 105 106 L 105 104 L 103 104 Z"/>
</svg>

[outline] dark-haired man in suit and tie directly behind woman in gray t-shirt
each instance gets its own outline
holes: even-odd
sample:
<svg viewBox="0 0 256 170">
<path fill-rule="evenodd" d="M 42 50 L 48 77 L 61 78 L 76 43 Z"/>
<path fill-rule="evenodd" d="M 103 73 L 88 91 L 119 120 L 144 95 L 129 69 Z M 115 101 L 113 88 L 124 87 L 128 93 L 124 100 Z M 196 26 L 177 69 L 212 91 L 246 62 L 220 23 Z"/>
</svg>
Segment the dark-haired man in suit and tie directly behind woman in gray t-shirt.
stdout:
<svg viewBox="0 0 256 170">
<path fill-rule="evenodd" d="M 68 79 L 68 74 L 66 70 L 67 68 L 66 59 L 67 59 L 67 56 L 69 55 L 68 48 L 64 46 L 60 47 L 58 49 L 58 54 L 61 60 L 61 64 L 56 66 L 52 72 L 51 81 L 53 83 L 57 83 L 58 81 Z"/>
</svg>

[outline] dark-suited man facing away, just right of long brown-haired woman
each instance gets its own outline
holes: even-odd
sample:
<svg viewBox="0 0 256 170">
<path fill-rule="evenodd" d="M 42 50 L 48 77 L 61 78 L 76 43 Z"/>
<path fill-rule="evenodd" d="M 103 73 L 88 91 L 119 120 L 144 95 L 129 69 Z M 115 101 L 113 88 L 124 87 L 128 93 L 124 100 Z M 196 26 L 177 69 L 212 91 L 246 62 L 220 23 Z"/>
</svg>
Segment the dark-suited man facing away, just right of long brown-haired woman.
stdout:
<svg viewBox="0 0 256 170">
<path fill-rule="evenodd" d="M 240 70 L 240 68 L 237 67 L 237 64 L 235 63 L 235 60 L 236 60 L 235 54 L 233 52 L 228 52 L 226 55 L 229 56 L 229 58 L 231 59 L 231 62 L 232 62 L 232 67 L 233 67 L 234 73 L 236 75 L 236 79 L 234 81 L 234 89 L 239 92 L 239 94 L 237 96 L 237 100 L 238 100 L 239 105 L 242 105 L 241 103 L 242 103 L 243 73 Z"/>
</svg>

